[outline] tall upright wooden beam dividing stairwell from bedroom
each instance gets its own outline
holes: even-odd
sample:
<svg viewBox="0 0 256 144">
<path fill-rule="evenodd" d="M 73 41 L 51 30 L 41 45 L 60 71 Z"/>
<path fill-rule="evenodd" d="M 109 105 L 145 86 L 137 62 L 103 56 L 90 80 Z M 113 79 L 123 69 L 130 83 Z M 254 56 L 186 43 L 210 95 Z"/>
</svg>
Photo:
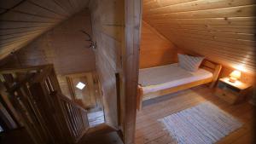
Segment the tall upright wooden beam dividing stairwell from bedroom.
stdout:
<svg viewBox="0 0 256 144">
<path fill-rule="evenodd" d="M 123 55 L 125 82 L 125 144 L 133 144 L 135 142 L 141 25 L 142 1 L 125 0 L 125 51 Z"/>
</svg>

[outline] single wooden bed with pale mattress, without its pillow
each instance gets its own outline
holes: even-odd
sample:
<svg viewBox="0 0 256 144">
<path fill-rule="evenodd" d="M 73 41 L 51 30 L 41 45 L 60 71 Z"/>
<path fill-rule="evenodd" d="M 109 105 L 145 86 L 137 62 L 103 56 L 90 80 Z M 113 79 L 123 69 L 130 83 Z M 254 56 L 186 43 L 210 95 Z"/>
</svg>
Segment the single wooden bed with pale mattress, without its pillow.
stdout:
<svg viewBox="0 0 256 144">
<path fill-rule="evenodd" d="M 137 109 L 142 109 L 142 102 L 201 84 L 213 87 L 218 79 L 222 66 L 210 60 L 203 60 L 200 69 L 189 72 L 177 63 L 144 68 L 139 70 L 137 88 Z"/>
</svg>

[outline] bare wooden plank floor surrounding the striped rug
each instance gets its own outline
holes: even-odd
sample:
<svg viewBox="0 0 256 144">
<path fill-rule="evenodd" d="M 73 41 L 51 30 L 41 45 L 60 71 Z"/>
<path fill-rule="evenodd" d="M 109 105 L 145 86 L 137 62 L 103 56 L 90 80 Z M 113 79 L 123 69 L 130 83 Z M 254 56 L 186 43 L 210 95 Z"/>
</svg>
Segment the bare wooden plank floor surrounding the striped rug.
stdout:
<svg viewBox="0 0 256 144">
<path fill-rule="evenodd" d="M 154 100 L 144 101 L 143 110 L 137 112 L 136 144 L 172 143 L 172 137 L 166 130 L 163 130 L 163 126 L 157 119 L 193 107 L 203 101 L 211 101 L 244 123 L 239 130 L 218 141 L 219 144 L 256 143 L 256 139 L 253 136 L 253 122 L 255 122 L 253 112 L 255 112 L 255 107 L 248 102 L 231 106 L 213 95 L 211 89 L 208 89 L 206 86 L 199 86 L 172 95 L 161 96 Z"/>
</svg>

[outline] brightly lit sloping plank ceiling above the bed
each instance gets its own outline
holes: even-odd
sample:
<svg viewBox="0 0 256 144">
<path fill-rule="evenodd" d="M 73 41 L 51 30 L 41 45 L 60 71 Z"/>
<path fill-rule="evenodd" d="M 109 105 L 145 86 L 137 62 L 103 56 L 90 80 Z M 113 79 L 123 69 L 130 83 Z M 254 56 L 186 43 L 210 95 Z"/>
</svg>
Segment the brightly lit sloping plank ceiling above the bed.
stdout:
<svg viewBox="0 0 256 144">
<path fill-rule="evenodd" d="M 178 48 L 256 71 L 255 0 L 143 0 L 143 20 Z"/>
</svg>

